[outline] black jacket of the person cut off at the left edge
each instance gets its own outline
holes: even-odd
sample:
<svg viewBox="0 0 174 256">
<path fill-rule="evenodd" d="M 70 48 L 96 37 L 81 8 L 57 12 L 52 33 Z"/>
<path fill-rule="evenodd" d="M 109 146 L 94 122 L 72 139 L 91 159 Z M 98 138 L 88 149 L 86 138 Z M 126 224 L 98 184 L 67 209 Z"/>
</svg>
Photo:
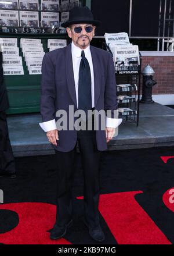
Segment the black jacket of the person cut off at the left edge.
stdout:
<svg viewBox="0 0 174 256">
<path fill-rule="evenodd" d="M 9 108 L 8 94 L 6 91 L 5 80 L 3 77 L 2 52 L 0 52 L 0 111 Z"/>
</svg>

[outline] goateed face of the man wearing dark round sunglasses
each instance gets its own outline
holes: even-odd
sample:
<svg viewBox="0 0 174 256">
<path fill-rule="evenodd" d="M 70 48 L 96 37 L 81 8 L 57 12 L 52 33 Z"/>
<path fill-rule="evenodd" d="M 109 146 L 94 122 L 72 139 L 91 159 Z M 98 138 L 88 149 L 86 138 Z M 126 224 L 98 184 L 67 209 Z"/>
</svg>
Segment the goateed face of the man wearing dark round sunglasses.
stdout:
<svg viewBox="0 0 174 256">
<path fill-rule="evenodd" d="M 92 27 L 92 31 L 86 32 L 86 30 L 85 30 L 86 27 L 88 27 L 88 29 L 89 29 L 89 27 Z M 77 32 L 75 32 L 76 31 L 75 28 L 81 28 L 82 31 L 80 33 L 77 33 Z M 86 47 L 88 47 L 88 45 L 90 44 L 90 41 L 92 40 L 93 36 L 95 35 L 95 28 L 96 27 L 93 26 L 92 24 L 73 24 L 70 27 L 67 27 L 67 33 L 68 33 L 68 36 L 70 38 L 72 38 L 74 44 L 77 47 L 79 47 L 81 49 L 85 49 Z M 77 29 L 77 30 L 80 30 L 80 29 Z"/>
</svg>

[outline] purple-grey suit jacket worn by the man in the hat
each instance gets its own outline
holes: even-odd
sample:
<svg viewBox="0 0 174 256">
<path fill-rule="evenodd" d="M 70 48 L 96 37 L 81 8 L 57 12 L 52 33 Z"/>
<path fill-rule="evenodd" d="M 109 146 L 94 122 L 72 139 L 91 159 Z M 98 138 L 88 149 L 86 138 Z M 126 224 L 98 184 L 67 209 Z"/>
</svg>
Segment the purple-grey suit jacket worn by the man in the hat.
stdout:
<svg viewBox="0 0 174 256">
<path fill-rule="evenodd" d="M 117 109 L 117 92 L 115 81 L 114 62 L 111 54 L 103 49 L 90 45 L 92 55 L 94 79 L 95 79 L 95 109 L 110 110 L 114 115 Z M 67 113 L 67 122 L 74 113 L 69 111 L 69 106 L 74 106 L 77 111 L 77 99 L 73 73 L 73 59 L 71 44 L 67 47 L 56 49 L 44 55 L 42 62 L 41 83 L 41 115 L 43 122 L 60 118 L 56 117 L 56 111 L 63 110 Z M 74 117 L 74 122 L 77 117 Z M 67 123 L 69 127 L 69 123 Z M 73 150 L 77 141 L 77 130 L 59 130 L 59 142 L 53 145 L 55 150 L 68 152 Z M 106 131 L 96 130 L 97 149 L 107 149 Z"/>
</svg>

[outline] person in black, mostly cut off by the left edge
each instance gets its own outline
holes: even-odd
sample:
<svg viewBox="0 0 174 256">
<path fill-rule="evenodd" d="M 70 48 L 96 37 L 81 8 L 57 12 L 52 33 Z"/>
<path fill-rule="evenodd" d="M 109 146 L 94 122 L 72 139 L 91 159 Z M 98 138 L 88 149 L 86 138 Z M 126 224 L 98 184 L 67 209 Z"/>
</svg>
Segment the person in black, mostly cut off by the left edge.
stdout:
<svg viewBox="0 0 174 256">
<path fill-rule="evenodd" d="M 14 178 L 16 177 L 16 169 L 5 113 L 8 108 L 8 95 L 3 77 L 2 52 L 0 51 L 0 177 Z"/>
</svg>

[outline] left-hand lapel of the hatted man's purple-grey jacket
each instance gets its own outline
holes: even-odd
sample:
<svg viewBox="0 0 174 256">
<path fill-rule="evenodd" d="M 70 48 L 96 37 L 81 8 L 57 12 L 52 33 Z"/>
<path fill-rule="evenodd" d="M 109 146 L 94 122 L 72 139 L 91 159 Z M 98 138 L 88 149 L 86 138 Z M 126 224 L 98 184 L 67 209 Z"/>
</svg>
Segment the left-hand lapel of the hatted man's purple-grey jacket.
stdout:
<svg viewBox="0 0 174 256">
<path fill-rule="evenodd" d="M 71 98 L 77 108 L 77 99 L 75 93 L 75 81 L 74 81 L 74 73 L 73 73 L 73 58 L 71 54 L 71 44 L 68 44 L 66 48 L 66 77 L 68 84 L 68 91 L 70 93 Z"/>
</svg>

